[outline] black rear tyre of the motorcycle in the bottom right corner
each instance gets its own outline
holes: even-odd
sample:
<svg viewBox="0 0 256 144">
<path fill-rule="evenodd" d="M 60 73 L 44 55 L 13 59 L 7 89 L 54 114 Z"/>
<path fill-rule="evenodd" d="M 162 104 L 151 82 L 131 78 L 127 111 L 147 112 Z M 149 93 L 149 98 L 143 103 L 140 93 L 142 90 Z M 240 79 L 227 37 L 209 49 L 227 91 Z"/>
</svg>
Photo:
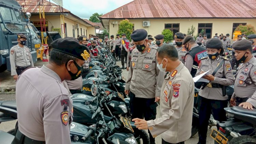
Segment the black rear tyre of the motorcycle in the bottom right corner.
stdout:
<svg viewBox="0 0 256 144">
<path fill-rule="evenodd" d="M 236 138 L 233 138 L 229 143 L 230 144 L 256 144 L 256 139 L 248 135 L 240 135 Z"/>
</svg>

